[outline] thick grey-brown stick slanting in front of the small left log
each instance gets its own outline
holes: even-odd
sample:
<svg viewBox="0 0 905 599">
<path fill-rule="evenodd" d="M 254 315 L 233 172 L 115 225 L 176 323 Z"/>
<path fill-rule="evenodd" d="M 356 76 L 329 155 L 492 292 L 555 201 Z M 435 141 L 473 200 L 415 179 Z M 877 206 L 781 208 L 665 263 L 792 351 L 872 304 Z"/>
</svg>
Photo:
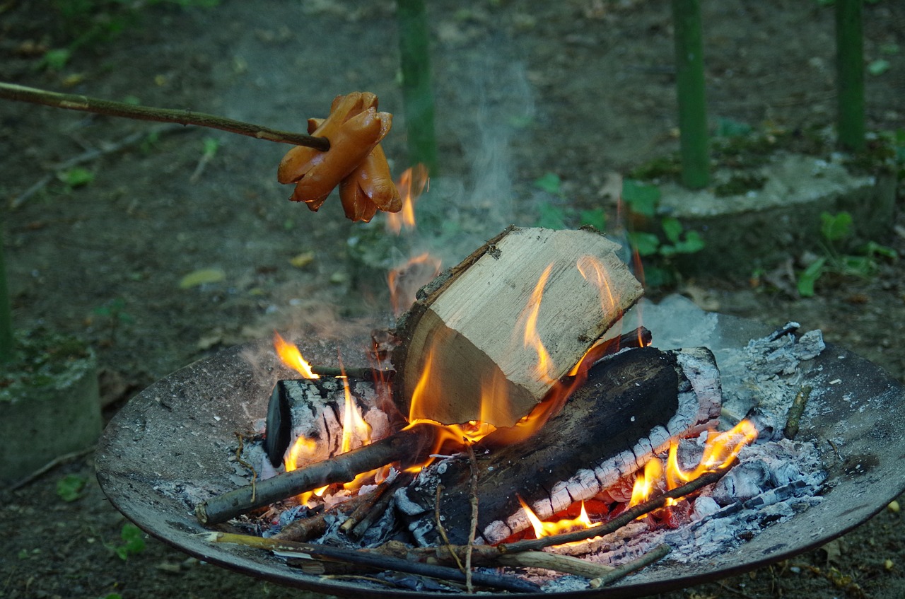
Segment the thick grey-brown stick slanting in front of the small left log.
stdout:
<svg viewBox="0 0 905 599">
<path fill-rule="evenodd" d="M 195 517 L 202 524 L 218 524 L 308 490 L 334 482 L 348 482 L 360 472 L 372 471 L 394 461 L 405 462 L 404 467 L 424 461 L 433 450 L 433 442 L 441 430 L 433 424 L 415 424 L 327 461 L 261 480 L 253 488 L 246 485 L 202 501 L 195 506 Z"/>
</svg>

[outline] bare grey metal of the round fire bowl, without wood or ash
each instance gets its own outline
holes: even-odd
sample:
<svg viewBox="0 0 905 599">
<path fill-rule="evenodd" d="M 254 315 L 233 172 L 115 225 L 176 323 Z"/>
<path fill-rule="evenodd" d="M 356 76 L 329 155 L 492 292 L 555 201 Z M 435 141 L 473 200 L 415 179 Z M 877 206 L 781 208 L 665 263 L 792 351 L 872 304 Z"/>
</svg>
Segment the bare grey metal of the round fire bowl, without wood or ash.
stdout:
<svg viewBox="0 0 905 599">
<path fill-rule="evenodd" d="M 719 317 L 718 327 L 726 347 L 743 347 L 748 339 L 770 332 L 763 325 L 725 316 Z M 349 597 L 439 595 L 321 579 L 265 551 L 208 543 L 199 536 L 205 528 L 191 509 L 160 490 L 181 482 L 211 493 L 233 488 L 233 466 L 227 458 L 235 445 L 234 432 L 248 431 L 254 420 L 263 418 L 274 382 L 291 377 L 274 363 L 268 346 L 259 342 L 233 347 L 186 366 L 120 410 L 97 452 L 98 479 L 107 497 L 150 535 L 243 574 Z M 362 354 L 356 347 L 342 349 L 347 358 Z M 331 364 L 337 355 L 335 347 L 315 343 L 302 352 L 319 364 Z M 256 366 L 245 355 L 256 356 Z M 814 441 L 823 452 L 830 473 L 824 501 L 694 564 L 671 563 L 667 557 L 606 588 L 529 596 L 637 597 L 735 575 L 819 547 L 898 497 L 905 490 L 903 387 L 880 367 L 839 347 L 828 346 L 804 364 L 809 366 L 802 385 L 814 386 L 821 397 L 818 406 L 805 411 L 797 439 Z M 828 440 L 834 441 L 838 454 Z"/>
</svg>

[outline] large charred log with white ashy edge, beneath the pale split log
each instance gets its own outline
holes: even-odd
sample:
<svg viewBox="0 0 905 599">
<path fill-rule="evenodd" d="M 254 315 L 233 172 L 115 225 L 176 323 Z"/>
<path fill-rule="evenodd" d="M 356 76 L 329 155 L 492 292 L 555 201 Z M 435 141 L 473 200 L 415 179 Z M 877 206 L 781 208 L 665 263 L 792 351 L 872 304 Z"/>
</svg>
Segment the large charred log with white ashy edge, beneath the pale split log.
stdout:
<svg viewBox="0 0 905 599">
<path fill-rule="evenodd" d="M 477 490 L 483 541 L 497 543 L 529 528 L 519 496 L 540 518 L 590 499 L 637 471 L 670 439 L 714 425 L 720 400 L 719 371 L 705 348 L 645 347 L 605 359 L 536 436 L 490 454 L 481 445 L 492 443 L 493 434 L 475 446 L 483 458 Z M 468 461 L 456 457 L 424 469 L 396 492 L 396 507 L 419 545 L 437 543 L 438 484 L 444 487 L 440 512 L 450 542 L 466 543 L 469 481 Z"/>
</svg>

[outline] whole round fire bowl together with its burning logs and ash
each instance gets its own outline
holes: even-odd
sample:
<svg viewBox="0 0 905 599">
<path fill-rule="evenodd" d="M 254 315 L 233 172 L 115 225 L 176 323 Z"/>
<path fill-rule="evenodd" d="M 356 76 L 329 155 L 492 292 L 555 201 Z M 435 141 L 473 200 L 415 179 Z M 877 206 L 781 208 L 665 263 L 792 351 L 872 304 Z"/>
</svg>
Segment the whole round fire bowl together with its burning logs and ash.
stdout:
<svg viewBox="0 0 905 599">
<path fill-rule="evenodd" d="M 834 507 L 846 473 L 877 467 L 849 463 L 864 410 L 854 437 L 814 414 L 865 393 L 900 406 L 898 385 L 795 323 L 632 309 L 641 288 L 613 250 L 508 229 L 367 343 L 277 335 L 253 368 L 238 350 L 190 366 L 118 417 L 100 480 L 190 553 L 333 594 L 653 592 L 881 507 Z M 176 438 L 179 457 L 145 451 Z M 137 451 L 148 468 L 124 469 Z"/>
</svg>

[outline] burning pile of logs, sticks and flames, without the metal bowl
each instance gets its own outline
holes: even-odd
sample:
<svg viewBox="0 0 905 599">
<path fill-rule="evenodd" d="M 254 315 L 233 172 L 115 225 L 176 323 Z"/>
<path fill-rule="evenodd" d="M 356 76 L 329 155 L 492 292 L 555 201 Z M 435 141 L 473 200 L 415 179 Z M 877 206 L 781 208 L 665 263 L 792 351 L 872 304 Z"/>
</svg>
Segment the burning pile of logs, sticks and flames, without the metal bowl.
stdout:
<svg viewBox="0 0 905 599">
<path fill-rule="evenodd" d="M 430 560 L 441 565 L 432 578 L 464 576 L 468 590 L 481 578 L 472 565 L 599 586 L 720 510 L 780 488 L 783 499 L 813 496 L 816 464 L 776 480 L 748 460 L 724 478 L 769 419 L 718 431 L 710 349 L 663 351 L 643 327 L 623 333 L 641 286 L 614 249 L 597 233 L 510 228 L 435 280 L 400 319 L 392 358 L 374 344 L 368 368 L 312 366 L 276 335 L 300 378 L 278 381 L 264 423 L 239 437 L 234 459 L 251 480 L 199 502 L 199 522 L 230 521 L 243 533 L 212 540 L 282 555 L 340 546 L 345 562 L 359 564 L 358 552 L 409 575 Z M 758 343 L 752 365 L 786 355 L 768 376 L 824 349 L 819 332 L 799 339 L 794 326 Z M 660 542 L 617 549 L 624 529 Z M 531 575 L 477 584 L 540 588 Z"/>
</svg>

